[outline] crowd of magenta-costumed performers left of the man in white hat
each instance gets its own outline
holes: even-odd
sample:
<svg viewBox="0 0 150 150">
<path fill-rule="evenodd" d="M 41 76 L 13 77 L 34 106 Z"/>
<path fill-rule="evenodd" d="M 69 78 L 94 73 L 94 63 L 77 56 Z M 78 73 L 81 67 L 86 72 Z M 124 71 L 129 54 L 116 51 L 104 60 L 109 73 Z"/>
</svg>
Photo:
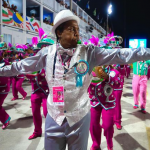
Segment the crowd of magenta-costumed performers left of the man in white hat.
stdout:
<svg viewBox="0 0 150 150">
<path fill-rule="evenodd" d="M 43 29 L 39 29 L 40 41 L 38 43 L 38 39 L 34 37 L 32 39 L 33 43 L 29 44 L 16 44 L 13 46 L 11 43 L 8 45 L 5 42 L 0 43 L 0 64 L 1 67 L 8 66 L 14 62 L 19 62 L 25 58 L 36 55 L 36 53 L 45 46 L 54 44 L 53 40 L 47 39 L 47 42 L 43 41 L 46 39 L 44 36 L 45 32 Z M 42 37 L 43 36 L 43 37 Z M 34 47 L 37 45 L 36 47 Z M 5 80 L 4 80 L 5 79 Z M 42 117 L 40 112 L 40 107 L 43 107 L 43 113 L 46 117 L 47 115 L 47 95 L 48 95 L 48 86 L 45 81 L 45 71 L 44 69 L 34 72 L 32 74 L 20 74 L 13 77 L 1 77 L 0 78 L 0 121 L 3 123 L 2 129 L 5 129 L 11 120 L 11 117 L 5 112 L 2 108 L 2 103 L 7 97 L 10 85 L 12 85 L 12 99 L 11 101 L 17 100 L 18 93 L 22 95 L 22 99 L 25 100 L 27 96 L 27 92 L 23 89 L 22 83 L 24 79 L 30 81 L 32 86 L 32 94 L 31 94 L 31 108 L 33 113 L 33 122 L 35 124 L 35 130 L 33 134 L 28 138 L 33 139 L 35 137 L 39 137 L 42 134 Z M 2 82 L 3 81 L 3 82 Z M 6 84 L 6 86 L 2 86 Z M 5 91 L 3 93 L 3 91 Z M 38 94 L 37 94 L 38 93 Z"/>
</svg>

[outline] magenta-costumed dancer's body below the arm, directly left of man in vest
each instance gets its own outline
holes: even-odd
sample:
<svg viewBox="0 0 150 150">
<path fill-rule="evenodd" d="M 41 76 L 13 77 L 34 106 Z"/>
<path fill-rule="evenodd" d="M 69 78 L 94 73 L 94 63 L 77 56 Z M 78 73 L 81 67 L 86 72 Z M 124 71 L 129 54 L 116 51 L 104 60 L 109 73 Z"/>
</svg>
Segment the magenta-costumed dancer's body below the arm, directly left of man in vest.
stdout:
<svg viewBox="0 0 150 150">
<path fill-rule="evenodd" d="M 29 140 L 40 137 L 42 135 L 42 116 L 41 116 L 41 104 L 43 103 L 43 114 L 47 115 L 47 96 L 48 96 L 48 86 L 45 80 L 44 69 L 37 74 L 26 75 L 30 79 L 32 86 L 31 94 L 31 106 L 34 122 L 34 132 L 28 138 Z"/>
</svg>

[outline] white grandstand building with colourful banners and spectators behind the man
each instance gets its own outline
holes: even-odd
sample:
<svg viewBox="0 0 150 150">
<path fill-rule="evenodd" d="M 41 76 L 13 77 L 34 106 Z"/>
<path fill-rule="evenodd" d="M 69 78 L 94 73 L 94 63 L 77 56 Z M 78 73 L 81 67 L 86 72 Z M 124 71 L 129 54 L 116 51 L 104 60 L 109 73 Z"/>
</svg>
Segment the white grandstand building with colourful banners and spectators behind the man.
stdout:
<svg viewBox="0 0 150 150">
<path fill-rule="evenodd" d="M 65 0 L 68 6 L 69 1 Z M 55 40 L 55 35 L 51 33 L 53 20 L 59 11 L 67 9 L 66 5 L 61 5 L 56 0 L 9 0 L 6 6 L 2 1 L 0 5 L 0 35 L 3 35 L 6 43 L 12 44 L 31 43 L 33 36 L 38 37 L 40 27 L 48 37 Z M 87 41 L 91 35 L 98 37 L 106 34 L 106 31 L 74 2 L 72 11 L 80 18 L 80 38 L 83 41 Z M 89 25 L 93 26 L 92 33 L 87 31 Z"/>
</svg>

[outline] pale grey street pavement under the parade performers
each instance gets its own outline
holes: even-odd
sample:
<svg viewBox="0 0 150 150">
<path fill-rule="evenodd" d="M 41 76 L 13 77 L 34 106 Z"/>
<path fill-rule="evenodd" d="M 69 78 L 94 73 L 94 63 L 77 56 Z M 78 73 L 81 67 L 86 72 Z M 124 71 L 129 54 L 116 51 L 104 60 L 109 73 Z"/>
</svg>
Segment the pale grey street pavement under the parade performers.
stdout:
<svg viewBox="0 0 150 150">
<path fill-rule="evenodd" d="M 44 150 L 44 122 L 42 137 L 28 140 L 33 133 L 34 125 L 31 111 L 31 86 L 28 81 L 23 83 L 28 96 L 25 100 L 20 99 L 11 101 L 10 91 L 3 106 L 11 116 L 10 125 L 6 130 L 2 130 L 0 123 L 0 150 Z M 114 150 L 149 150 L 150 142 L 150 81 L 147 88 L 147 114 L 142 114 L 140 109 L 133 109 L 132 77 L 125 79 L 122 104 L 122 130 L 115 128 Z M 41 109 L 42 111 L 42 109 Z M 43 113 L 42 113 L 43 114 Z M 89 136 L 88 150 L 92 144 Z M 102 134 L 101 149 L 107 150 L 106 139 Z"/>
</svg>

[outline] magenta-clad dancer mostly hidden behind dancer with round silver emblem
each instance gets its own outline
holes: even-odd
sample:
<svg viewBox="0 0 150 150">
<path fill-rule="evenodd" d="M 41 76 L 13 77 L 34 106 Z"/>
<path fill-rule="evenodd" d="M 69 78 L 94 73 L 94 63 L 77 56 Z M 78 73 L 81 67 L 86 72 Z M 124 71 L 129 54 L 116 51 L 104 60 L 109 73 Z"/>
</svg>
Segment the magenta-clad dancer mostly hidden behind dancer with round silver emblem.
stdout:
<svg viewBox="0 0 150 150">
<path fill-rule="evenodd" d="M 125 65 L 116 65 L 116 69 L 119 72 L 119 79 L 120 79 L 120 85 L 118 88 L 114 89 L 114 94 L 116 98 L 116 107 L 115 107 L 115 115 L 114 115 L 114 123 L 117 127 L 118 130 L 122 129 L 121 126 L 121 96 L 122 96 L 122 91 L 123 91 L 123 85 L 124 85 L 124 76 L 125 76 Z"/>
</svg>

